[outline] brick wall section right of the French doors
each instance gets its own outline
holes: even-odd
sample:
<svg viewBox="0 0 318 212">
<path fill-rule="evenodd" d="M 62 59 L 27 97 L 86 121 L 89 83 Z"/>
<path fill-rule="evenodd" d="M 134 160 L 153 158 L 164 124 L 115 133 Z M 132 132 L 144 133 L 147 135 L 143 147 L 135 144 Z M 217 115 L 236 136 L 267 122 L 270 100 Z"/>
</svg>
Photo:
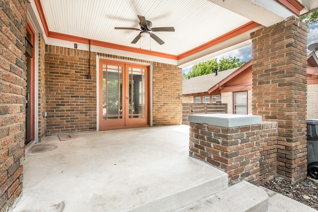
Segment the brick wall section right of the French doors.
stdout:
<svg viewBox="0 0 318 212">
<path fill-rule="evenodd" d="M 182 123 L 182 69 L 153 63 L 153 125 Z"/>
</svg>

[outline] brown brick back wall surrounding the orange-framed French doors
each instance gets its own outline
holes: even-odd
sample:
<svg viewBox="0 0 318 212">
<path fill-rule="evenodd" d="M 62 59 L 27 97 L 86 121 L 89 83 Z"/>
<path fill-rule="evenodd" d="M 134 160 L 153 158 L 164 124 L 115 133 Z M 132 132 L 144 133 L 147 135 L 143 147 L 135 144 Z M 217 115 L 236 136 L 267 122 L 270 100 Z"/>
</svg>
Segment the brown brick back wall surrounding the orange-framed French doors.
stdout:
<svg viewBox="0 0 318 212">
<path fill-rule="evenodd" d="M 88 51 L 47 45 L 45 52 L 43 99 L 46 102 L 45 111 L 48 113 L 45 126 L 47 134 L 96 130 L 97 55 L 109 60 L 121 59 L 132 63 L 152 64 L 153 124 L 181 124 L 182 73 L 176 66 L 104 53 L 91 53 L 92 79 L 88 80 Z M 39 116 L 42 116 L 40 112 Z"/>
</svg>

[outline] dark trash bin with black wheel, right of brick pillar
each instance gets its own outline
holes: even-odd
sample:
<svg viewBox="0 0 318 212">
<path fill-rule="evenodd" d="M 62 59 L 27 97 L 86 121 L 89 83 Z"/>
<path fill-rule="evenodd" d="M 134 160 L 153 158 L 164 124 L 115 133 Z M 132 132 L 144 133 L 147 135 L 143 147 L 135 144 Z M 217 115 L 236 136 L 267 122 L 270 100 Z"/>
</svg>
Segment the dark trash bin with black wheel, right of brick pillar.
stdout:
<svg viewBox="0 0 318 212">
<path fill-rule="evenodd" d="M 307 119 L 307 173 L 318 179 L 318 119 Z"/>
</svg>

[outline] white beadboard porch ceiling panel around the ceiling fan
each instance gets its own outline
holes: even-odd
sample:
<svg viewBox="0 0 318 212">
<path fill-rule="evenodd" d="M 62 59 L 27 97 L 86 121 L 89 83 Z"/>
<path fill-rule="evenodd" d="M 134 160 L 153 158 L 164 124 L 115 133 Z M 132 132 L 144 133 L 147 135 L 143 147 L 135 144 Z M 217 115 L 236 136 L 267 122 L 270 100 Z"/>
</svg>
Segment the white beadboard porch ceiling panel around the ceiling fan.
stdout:
<svg viewBox="0 0 318 212">
<path fill-rule="evenodd" d="M 41 0 L 49 31 L 123 46 L 179 55 L 207 43 L 250 20 L 208 0 Z M 175 32 L 153 32 L 152 38 L 132 40 L 140 28 L 137 15 L 153 27 L 175 28 Z"/>
</svg>

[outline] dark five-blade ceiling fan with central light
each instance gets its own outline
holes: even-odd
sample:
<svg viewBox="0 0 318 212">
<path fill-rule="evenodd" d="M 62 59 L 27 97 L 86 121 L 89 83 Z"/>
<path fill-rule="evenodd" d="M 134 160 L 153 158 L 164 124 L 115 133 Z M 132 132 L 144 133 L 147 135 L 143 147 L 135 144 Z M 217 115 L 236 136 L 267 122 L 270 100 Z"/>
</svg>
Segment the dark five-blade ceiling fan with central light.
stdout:
<svg viewBox="0 0 318 212">
<path fill-rule="evenodd" d="M 131 42 L 132 44 L 137 43 L 141 37 L 143 38 L 149 38 L 152 37 L 155 41 L 157 41 L 160 45 L 164 44 L 164 42 L 154 33 L 152 32 L 174 32 L 173 27 L 154 27 L 153 23 L 149 20 L 146 20 L 145 16 L 138 15 L 138 18 L 140 20 L 139 25 L 140 29 L 138 28 L 131 28 L 131 27 L 115 27 L 115 29 L 129 29 L 129 30 L 137 30 L 141 31 L 135 39 Z"/>
</svg>

